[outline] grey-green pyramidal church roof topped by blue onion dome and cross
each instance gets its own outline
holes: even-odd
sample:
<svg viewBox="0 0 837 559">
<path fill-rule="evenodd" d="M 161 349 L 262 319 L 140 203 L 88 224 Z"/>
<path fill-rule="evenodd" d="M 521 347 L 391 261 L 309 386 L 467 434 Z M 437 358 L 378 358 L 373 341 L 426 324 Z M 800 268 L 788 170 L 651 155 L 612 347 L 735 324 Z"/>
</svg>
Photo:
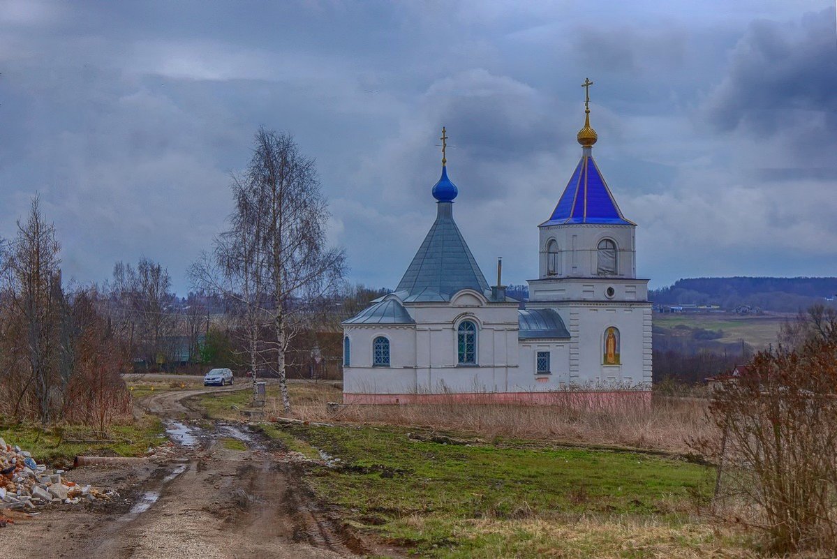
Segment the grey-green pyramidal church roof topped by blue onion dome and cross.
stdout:
<svg viewBox="0 0 837 559">
<path fill-rule="evenodd" d="M 454 222 L 453 203 L 459 189 L 448 178 L 446 140 L 443 128 L 442 177 L 433 187 L 438 201 L 436 221 L 395 289 L 395 295 L 405 303 L 447 301 L 466 288 L 480 293 L 490 289 Z"/>
</svg>

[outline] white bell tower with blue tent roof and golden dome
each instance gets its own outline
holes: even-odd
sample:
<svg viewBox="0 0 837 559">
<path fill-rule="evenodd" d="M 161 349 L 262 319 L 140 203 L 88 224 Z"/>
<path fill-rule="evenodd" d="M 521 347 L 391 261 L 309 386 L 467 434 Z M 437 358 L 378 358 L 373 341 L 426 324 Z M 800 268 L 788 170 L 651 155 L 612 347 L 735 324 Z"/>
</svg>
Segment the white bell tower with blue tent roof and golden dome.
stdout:
<svg viewBox="0 0 837 559">
<path fill-rule="evenodd" d="M 547 221 L 538 226 L 539 274 L 526 308 L 552 308 L 572 336 L 569 382 L 650 387 L 648 280 L 636 275 L 636 224 L 625 218 L 593 159 L 586 79 L 582 156 Z"/>
</svg>

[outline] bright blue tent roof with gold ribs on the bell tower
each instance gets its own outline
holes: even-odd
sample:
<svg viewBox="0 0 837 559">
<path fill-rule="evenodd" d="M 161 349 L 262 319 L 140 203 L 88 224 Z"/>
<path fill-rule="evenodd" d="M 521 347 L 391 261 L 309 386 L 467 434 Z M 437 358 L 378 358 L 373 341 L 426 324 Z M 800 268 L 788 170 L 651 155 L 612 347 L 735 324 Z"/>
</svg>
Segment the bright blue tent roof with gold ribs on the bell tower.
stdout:
<svg viewBox="0 0 837 559">
<path fill-rule="evenodd" d="M 582 156 L 552 216 L 541 225 L 575 223 L 634 225 L 622 215 L 591 155 Z"/>
</svg>

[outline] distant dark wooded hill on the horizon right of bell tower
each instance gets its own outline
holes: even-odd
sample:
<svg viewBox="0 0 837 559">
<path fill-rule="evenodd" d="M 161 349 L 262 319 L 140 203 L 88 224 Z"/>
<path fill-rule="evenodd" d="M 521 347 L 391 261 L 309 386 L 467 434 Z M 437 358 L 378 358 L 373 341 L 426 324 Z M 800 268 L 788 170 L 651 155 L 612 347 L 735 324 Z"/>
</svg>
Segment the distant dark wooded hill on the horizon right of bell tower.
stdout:
<svg viewBox="0 0 837 559">
<path fill-rule="evenodd" d="M 742 305 L 773 312 L 796 312 L 811 305 L 834 304 L 837 278 L 691 278 L 651 290 L 656 305 Z"/>
</svg>

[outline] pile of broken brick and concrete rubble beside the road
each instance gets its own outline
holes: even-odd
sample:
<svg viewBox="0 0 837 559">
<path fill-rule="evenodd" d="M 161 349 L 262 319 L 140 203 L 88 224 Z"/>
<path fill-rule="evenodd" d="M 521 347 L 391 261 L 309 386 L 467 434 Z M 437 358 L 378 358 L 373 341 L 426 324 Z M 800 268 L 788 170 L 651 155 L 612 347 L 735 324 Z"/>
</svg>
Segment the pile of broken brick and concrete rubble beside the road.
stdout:
<svg viewBox="0 0 837 559">
<path fill-rule="evenodd" d="M 0 438 L 0 510 L 34 510 L 51 504 L 110 500 L 110 491 L 80 487 L 64 477 L 63 469 L 47 469 L 32 454 Z"/>
</svg>

